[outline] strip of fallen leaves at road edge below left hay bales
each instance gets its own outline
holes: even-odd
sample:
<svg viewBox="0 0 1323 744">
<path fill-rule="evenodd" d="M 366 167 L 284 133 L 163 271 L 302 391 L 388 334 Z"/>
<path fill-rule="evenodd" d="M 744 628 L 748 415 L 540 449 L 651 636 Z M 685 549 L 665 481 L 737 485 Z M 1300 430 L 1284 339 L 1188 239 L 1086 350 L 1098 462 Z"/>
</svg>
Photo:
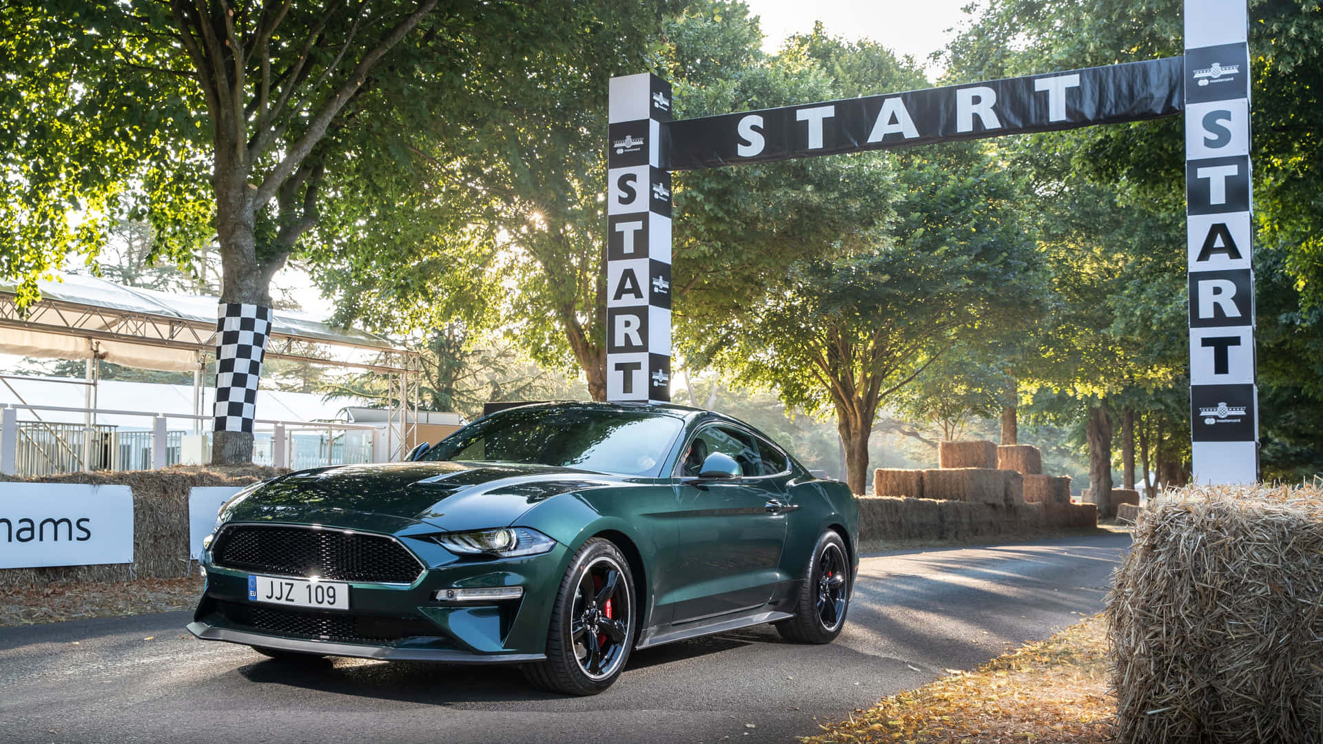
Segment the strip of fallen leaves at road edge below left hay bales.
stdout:
<svg viewBox="0 0 1323 744">
<path fill-rule="evenodd" d="M 0 589 L 0 628 L 193 609 L 200 577 L 83 581 Z"/>
</svg>

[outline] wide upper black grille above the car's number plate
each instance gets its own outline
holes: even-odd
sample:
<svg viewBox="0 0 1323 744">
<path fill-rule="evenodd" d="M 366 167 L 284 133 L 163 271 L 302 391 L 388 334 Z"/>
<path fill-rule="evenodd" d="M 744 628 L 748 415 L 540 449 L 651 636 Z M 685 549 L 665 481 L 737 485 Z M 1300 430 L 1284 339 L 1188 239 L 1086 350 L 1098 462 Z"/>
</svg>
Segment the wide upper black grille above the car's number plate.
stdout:
<svg viewBox="0 0 1323 744">
<path fill-rule="evenodd" d="M 390 537 L 310 527 L 234 526 L 221 531 L 216 565 L 328 581 L 411 584 L 422 565 Z"/>
</svg>

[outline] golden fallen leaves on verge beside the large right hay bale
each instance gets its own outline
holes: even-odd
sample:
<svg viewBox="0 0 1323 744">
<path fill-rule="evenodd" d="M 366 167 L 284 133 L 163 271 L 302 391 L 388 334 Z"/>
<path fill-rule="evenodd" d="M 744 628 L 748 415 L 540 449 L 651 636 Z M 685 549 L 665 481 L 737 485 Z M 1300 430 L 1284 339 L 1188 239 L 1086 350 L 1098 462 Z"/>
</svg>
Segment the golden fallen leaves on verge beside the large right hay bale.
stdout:
<svg viewBox="0 0 1323 744">
<path fill-rule="evenodd" d="M 1107 694 L 1101 617 L 884 699 L 823 725 L 806 744 L 1094 744 L 1111 739 L 1117 699 Z M 951 670 L 947 670 L 951 671 Z"/>
</svg>

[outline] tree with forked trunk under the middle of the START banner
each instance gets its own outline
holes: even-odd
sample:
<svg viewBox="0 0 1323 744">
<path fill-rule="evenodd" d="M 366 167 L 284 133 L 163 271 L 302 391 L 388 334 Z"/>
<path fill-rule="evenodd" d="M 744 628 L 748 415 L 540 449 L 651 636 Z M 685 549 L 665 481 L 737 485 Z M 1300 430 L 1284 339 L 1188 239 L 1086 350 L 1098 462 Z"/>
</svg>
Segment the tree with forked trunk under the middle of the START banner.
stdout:
<svg viewBox="0 0 1323 744">
<path fill-rule="evenodd" d="M 964 143 L 894 160 L 904 196 L 893 224 L 867 228 L 872 249 L 796 263 L 744 316 L 693 335 L 738 380 L 835 414 L 860 494 L 882 402 L 953 347 L 1013 332 L 1043 299 L 1009 175 Z"/>
</svg>

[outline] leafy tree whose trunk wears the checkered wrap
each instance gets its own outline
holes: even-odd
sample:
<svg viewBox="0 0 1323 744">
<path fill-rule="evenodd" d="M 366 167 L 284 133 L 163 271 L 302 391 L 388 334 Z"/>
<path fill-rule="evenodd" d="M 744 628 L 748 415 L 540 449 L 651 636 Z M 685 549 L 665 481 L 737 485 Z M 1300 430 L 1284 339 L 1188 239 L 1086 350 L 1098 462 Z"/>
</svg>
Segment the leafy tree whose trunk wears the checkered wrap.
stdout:
<svg viewBox="0 0 1323 744">
<path fill-rule="evenodd" d="M 308 230 L 360 193 L 339 169 L 392 152 L 397 169 L 369 176 L 392 180 L 431 120 L 468 120 L 475 93 L 512 81 L 537 85 L 545 70 L 529 64 L 578 42 L 594 11 L 569 1 L 441 9 L 437 0 L 20 4 L 4 21 L 40 42 L 4 36 L 5 57 L 24 74 L 0 83 L 0 101 L 33 91 L 49 98 L 22 147 L 45 154 L 73 144 L 78 159 L 112 158 L 86 173 L 66 158 L 53 176 L 13 169 L 21 158 L 5 160 L 26 188 L 13 221 L 42 226 L 28 229 L 24 244 L 52 240 L 3 270 L 26 278 L 69 248 L 94 253 L 99 224 L 67 234 L 61 224 L 69 209 L 146 212 L 161 250 L 187 249 L 183 237 L 196 245 L 209 233 L 198 217 L 209 213 L 221 302 L 270 306 L 271 275 Z M 20 58 L 24 52 L 29 58 Z M 431 91 L 443 93 L 423 95 Z M 90 134 L 56 126 L 65 110 Z M 377 228 L 389 232 L 409 218 L 396 212 Z M 250 451 L 250 434 L 216 433 L 216 461 L 246 461 Z"/>
</svg>

